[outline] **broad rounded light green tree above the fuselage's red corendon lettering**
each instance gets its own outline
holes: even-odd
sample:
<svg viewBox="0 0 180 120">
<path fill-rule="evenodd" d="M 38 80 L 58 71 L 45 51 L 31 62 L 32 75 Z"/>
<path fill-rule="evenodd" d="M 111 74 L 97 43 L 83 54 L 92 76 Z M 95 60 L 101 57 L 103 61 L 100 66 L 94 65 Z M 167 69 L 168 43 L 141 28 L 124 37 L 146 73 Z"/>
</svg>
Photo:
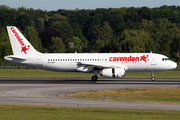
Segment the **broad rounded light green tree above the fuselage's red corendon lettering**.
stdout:
<svg viewBox="0 0 180 120">
<path fill-rule="evenodd" d="M 120 36 L 122 52 L 153 51 L 154 41 L 143 30 L 125 30 Z"/>
</svg>

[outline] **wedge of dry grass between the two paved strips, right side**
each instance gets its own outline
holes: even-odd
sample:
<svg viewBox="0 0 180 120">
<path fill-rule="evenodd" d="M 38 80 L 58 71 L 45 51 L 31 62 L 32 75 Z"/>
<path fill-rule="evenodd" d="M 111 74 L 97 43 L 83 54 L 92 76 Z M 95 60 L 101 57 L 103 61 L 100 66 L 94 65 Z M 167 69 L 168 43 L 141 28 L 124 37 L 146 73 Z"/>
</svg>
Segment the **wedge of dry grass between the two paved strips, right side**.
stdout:
<svg viewBox="0 0 180 120">
<path fill-rule="evenodd" d="M 75 98 L 81 99 L 180 104 L 180 87 L 95 90 L 74 95 Z M 66 96 L 70 97 L 71 94 Z"/>
</svg>

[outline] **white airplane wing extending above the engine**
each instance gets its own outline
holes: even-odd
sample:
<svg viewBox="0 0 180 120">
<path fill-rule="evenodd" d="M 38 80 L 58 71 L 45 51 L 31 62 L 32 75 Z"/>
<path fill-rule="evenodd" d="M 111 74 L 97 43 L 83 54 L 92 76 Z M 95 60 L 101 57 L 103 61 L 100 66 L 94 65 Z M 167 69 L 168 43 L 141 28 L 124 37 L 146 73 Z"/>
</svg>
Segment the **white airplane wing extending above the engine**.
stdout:
<svg viewBox="0 0 180 120">
<path fill-rule="evenodd" d="M 77 63 L 77 70 L 80 72 L 92 72 L 93 70 L 102 70 L 107 68 L 125 68 L 125 70 L 128 70 L 128 67 L 124 64 L 86 63 L 86 62 Z"/>
</svg>

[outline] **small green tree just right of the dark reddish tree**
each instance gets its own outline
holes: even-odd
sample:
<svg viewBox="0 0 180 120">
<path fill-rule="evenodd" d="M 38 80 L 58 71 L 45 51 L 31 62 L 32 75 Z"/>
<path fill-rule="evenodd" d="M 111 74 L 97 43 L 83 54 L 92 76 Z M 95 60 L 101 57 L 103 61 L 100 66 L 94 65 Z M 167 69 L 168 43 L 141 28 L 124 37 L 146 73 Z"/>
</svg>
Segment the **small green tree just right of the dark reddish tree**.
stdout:
<svg viewBox="0 0 180 120">
<path fill-rule="evenodd" d="M 62 38 L 52 37 L 51 43 L 52 45 L 49 47 L 50 52 L 52 53 L 65 53 L 66 52 L 66 48 L 65 48 L 64 43 L 62 42 Z"/>
</svg>

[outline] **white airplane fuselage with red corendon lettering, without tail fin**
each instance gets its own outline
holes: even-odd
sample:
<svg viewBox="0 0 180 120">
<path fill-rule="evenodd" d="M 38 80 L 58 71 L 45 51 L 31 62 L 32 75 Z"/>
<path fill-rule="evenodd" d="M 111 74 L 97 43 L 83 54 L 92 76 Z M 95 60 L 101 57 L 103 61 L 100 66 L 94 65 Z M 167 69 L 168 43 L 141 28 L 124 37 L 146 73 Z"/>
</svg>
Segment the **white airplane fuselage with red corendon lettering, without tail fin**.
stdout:
<svg viewBox="0 0 180 120">
<path fill-rule="evenodd" d="M 154 53 L 51 53 L 20 55 L 22 59 L 9 56 L 5 60 L 35 68 L 61 72 L 93 72 L 79 70 L 78 63 L 114 67 L 125 66 L 126 72 L 166 71 L 177 67 L 177 64 L 166 56 Z M 84 66 L 85 67 L 85 66 Z M 94 69 L 93 68 L 93 69 Z"/>
</svg>

